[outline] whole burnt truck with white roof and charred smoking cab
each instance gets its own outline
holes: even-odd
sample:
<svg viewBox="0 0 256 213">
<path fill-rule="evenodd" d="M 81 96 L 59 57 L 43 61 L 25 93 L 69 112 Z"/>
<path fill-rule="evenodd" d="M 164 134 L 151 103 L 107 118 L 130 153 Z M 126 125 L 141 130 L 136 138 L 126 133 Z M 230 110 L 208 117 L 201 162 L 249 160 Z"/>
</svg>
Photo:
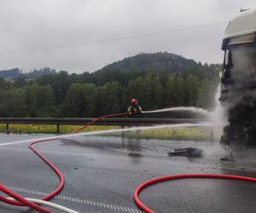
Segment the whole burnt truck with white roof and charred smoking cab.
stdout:
<svg viewBox="0 0 256 213">
<path fill-rule="evenodd" d="M 222 43 L 224 66 L 219 101 L 228 124 L 220 142 L 256 147 L 256 10 L 231 20 Z"/>
</svg>

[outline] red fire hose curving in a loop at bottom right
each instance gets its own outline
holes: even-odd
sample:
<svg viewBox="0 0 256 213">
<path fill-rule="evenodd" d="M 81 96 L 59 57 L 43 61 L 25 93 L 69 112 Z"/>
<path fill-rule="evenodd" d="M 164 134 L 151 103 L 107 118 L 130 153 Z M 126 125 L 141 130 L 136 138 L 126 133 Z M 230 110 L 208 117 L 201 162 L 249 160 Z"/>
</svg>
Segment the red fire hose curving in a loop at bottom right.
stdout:
<svg viewBox="0 0 256 213">
<path fill-rule="evenodd" d="M 145 211 L 146 213 L 155 213 L 154 210 L 148 208 L 147 205 L 143 204 L 141 199 L 139 199 L 139 193 L 143 190 L 143 188 L 153 185 L 155 183 L 159 183 L 161 181 L 172 181 L 175 179 L 183 179 L 183 178 L 217 178 L 217 179 L 231 179 L 231 180 L 239 180 L 239 181 L 252 181 L 256 182 L 256 178 L 248 177 L 248 176 L 232 176 L 232 175 L 222 175 L 222 174 L 180 174 L 180 175 L 173 175 L 173 176 L 161 176 L 149 181 L 143 182 L 135 192 L 133 193 L 133 199 L 137 206 Z"/>
</svg>

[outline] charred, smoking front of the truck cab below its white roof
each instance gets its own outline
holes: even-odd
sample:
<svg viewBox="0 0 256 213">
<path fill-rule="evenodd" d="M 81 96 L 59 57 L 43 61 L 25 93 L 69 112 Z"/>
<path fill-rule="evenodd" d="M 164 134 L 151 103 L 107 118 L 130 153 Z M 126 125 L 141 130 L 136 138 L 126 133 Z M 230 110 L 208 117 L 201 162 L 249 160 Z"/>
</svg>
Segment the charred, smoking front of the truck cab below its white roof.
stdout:
<svg viewBox="0 0 256 213">
<path fill-rule="evenodd" d="M 229 49 L 228 63 L 222 79 L 224 111 L 230 125 L 224 130 L 224 141 L 251 146 L 256 137 L 256 45 Z M 225 142 L 226 142 L 225 141 Z M 231 144 L 231 143 L 230 143 Z"/>
</svg>

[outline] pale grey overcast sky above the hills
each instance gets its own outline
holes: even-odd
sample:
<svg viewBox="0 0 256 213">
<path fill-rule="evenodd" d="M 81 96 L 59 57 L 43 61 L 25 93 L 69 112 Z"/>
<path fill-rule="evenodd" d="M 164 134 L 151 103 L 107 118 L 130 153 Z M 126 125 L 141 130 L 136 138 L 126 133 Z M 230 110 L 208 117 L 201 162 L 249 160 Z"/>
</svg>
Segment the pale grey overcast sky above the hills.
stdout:
<svg viewBox="0 0 256 213">
<path fill-rule="evenodd" d="M 211 25 L 232 19 L 255 0 L 0 0 L 0 70 L 52 67 L 93 72 L 141 52 L 222 62 L 226 24 L 152 36 L 118 37 Z M 75 43 L 56 49 L 52 47 Z M 37 51 L 23 51 L 41 49 Z M 17 53 L 14 53 L 16 52 Z"/>
</svg>

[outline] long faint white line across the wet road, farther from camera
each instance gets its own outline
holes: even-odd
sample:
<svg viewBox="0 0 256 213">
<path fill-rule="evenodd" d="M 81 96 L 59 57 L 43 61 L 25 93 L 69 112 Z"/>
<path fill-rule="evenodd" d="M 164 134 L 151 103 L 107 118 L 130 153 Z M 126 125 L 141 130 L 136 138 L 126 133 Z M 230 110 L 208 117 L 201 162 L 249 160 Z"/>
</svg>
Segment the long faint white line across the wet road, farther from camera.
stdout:
<svg viewBox="0 0 256 213">
<path fill-rule="evenodd" d="M 17 152 L 31 152 L 27 148 L 18 148 L 18 147 L 0 147 L 0 150 L 9 150 L 9 151 L 17 151 Z M 120 155 L 107 155 L 102 153 L 70 153 L 63 151 L 51 151 L 51 150 L 40 150 L 42 153 L 49 154 L 59 154 L 59 155 L 67 155 L 67 156 L 79 156 L 84 158 L 108 158 L 112 160 L 123 160 L 123 161 L 137 161 L 139 163 L 154 163 L 154 164 L 177 164 L 183 166 L 195 166 L 195 167 L 204 167 L 212 169 L 224 169 L 224 170 L 243 170 L 243 171 L 256 171 L 254 167 L 245 167 L 245 166 L 232 166 L 232 165 L 217 165 L 217 164 L 199 164 L 199 163 L 188 163 L 182 161 L 175 161 L 169 159 L 156 159 L 156 158 L 136 158 L 130 156 L 120 156 Z"/>
</svg>

